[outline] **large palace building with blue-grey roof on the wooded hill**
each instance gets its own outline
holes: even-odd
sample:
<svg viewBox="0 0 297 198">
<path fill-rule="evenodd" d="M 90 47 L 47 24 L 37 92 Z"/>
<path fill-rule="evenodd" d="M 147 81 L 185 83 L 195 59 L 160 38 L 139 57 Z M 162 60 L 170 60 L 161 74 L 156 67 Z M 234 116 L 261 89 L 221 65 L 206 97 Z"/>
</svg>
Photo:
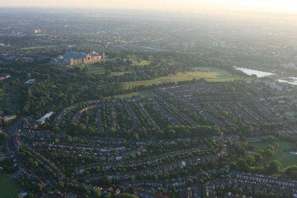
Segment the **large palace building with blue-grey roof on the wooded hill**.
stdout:
<svg viewBox="0 0 297 198">
<path fill-rule="evenodd" d="M 82 52 L 65 52 L 64 55 L 58 55 L 53 62 L 59 65 L 77 65 L 77 64 L 91 64 L 99 62 L 105 58 L 104 52 L 99 54 L 92 50 L 90 53 Z"/>
</svg>

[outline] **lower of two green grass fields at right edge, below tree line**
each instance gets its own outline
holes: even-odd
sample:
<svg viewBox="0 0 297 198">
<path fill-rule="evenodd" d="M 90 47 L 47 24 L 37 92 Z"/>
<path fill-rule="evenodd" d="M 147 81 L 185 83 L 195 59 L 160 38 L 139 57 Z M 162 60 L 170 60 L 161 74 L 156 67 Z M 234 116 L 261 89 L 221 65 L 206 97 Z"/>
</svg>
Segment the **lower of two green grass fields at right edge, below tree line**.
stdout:
<svg viewBox="0 0 297 198">
<path fill-rule="evenodd" d="M 283 171 L 287 167 L 297 164 L 297 155 L 284 153 L 284 152 L 276 152 L 271 157 L 265 159 L 264 162 L 269 162 L 272 160 L 278 160 L 279 162 L 281 162 L 280 170 Z"/>
</svg>

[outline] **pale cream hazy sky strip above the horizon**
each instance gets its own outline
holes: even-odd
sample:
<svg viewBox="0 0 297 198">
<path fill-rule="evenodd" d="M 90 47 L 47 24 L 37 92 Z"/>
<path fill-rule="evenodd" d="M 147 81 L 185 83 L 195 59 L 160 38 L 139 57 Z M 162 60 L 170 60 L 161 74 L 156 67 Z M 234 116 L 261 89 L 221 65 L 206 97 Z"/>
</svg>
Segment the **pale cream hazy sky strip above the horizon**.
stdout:
<svg viewBox="0 0 297 198">
<path fill-rule="evenodd" d="M 297 13 L 297 0 L 0 0 L 1 6 L 67 6 L 192 11 L 227 8 Z"/>
</svg>

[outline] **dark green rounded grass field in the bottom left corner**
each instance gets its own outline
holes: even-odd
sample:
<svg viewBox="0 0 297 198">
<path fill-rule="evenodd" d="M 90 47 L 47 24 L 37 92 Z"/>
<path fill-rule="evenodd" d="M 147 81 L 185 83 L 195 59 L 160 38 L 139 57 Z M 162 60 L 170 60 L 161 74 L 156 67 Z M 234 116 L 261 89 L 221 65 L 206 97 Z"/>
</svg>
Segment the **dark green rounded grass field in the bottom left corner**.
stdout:
<svg viewBox="0 0 297 198">
<path fill-rule="evenodd" d="M 18 185 L 8 176 L 0 174 L 0 197 L 16 198 L 20 193 Z"/>
</svg>

